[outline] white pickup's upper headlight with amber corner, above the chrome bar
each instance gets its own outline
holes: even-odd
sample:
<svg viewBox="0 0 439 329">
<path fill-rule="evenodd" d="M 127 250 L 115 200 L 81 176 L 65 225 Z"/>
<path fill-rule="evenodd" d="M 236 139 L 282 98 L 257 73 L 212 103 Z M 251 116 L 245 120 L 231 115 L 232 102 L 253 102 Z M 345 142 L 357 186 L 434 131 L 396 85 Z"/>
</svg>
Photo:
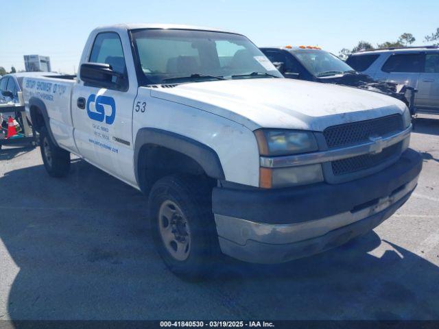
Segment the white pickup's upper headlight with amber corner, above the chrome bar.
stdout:
<svg viewBox="0 0 439 329">
<path fill-rule="evenodd" d="M 261 156 L 288 156 L 317 151 L 316 138 L 311 132 L 297 130 L 256 130 L 254 132 Z"/>
</svg>

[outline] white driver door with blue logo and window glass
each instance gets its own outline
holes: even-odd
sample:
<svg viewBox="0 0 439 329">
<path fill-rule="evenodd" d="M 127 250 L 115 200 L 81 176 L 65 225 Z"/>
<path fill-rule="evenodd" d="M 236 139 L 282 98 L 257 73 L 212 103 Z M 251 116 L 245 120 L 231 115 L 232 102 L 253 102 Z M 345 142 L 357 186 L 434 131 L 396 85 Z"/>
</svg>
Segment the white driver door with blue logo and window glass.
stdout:
<svg viewBox="0 0 439 329">
<path fill-rule="evenodd" d="M 128 49 L 129 51 L 129 49 Z M 72 117 L 80 154 L 97 167 L 133 183 L 132 108 L 137 85 L 130 83 L 121 37 L 117 32 L 95 36 L 88 62 L 110 64 L 121 73 L 126 86 L 106 88 L 104 84 L 78 82 L 72 95 Z M 132 80 L 131 80 L 132 81 Z"/>
</svg>

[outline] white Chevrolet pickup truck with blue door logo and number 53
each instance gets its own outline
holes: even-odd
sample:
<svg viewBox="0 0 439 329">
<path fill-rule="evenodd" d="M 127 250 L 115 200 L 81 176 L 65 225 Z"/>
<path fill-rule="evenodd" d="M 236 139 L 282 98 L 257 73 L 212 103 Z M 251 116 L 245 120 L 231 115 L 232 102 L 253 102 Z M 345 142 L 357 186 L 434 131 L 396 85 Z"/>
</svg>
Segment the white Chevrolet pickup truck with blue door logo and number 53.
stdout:
<svg viewBox="0 0 439 329">
<path fill-rule="evenodd" d="M 75 154 L 149 195 L 180 276 L 206 274 L 219 250 L 281 263 L 341 245 L 404 204 L 422 167 L 404 103 L 285 79 L 216 29 L 99 27 L 78 78 L 27 77 L 23 95 L 49 175 Z"/>
</svg>

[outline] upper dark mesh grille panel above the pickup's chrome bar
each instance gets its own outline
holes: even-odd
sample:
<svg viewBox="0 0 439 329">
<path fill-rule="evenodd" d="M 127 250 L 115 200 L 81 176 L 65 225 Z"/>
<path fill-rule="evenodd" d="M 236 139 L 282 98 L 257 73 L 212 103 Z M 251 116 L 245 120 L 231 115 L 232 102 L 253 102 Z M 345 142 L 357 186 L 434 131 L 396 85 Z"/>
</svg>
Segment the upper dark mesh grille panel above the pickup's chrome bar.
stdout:
<svg viewBox="0 0 439 329">
<path fill-rule="evenodd" d="M 392 114 L 387 117 L 333 125 L 323 131 L 328 147 L 343 147 L 368 142 L 370 136 L 385 136 L 403 130 L 403 117 Z"/>
</svg>

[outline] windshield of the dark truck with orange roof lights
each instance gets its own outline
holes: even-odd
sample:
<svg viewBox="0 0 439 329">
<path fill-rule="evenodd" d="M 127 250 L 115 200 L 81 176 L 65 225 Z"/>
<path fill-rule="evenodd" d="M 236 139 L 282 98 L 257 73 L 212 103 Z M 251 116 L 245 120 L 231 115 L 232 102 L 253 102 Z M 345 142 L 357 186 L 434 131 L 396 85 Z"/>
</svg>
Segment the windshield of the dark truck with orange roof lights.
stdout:
<svg viewBox="0 0 439 329">
<path fill-rule="evenodd" d="M 354 71 L 351 66 L 327 51 L 304 49 L 294 51 L 293 54 L 312 75 L 317 77 Z"/>
</svg>

